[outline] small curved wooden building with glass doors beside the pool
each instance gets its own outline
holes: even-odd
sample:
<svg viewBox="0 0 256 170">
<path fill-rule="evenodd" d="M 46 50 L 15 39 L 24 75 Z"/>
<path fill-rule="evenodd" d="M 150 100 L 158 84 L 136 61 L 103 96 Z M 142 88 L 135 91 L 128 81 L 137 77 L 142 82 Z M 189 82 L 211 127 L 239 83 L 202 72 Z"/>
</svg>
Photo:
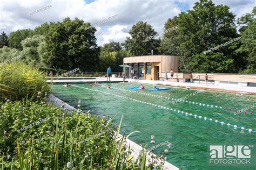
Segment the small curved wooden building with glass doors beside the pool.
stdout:
<svg viewBox="0 0 256 170">
<path fill-rule="evenodd" d="M 124 58 L 124 64 L 132 68 L 125 68 L 128 77 L 144 80 L 159 80 L 161 73 L 178 72 L 179 58 L 173 55 L 144 55 Z"/>
</svg>

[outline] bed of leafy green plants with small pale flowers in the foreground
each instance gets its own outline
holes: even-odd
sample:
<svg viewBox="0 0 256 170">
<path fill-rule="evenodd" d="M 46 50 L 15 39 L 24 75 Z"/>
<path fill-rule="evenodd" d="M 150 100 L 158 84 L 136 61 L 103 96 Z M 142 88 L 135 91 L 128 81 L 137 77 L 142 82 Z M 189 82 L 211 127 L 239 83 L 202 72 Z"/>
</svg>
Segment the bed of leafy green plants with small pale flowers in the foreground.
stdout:
<svg viewBox="0 0 256 170">
<path fill-rule="evenodd" d="M 149 167 L 145 165 L 145 152 L 139 160 L 132 161 L 130 146 L 126 145 L 124 137 L 118 137 L 121 124 L 115 133 L 111 118 L 68 112 L 45 103 L 44 99 L 0 105 L 2 168 L 61 169 L 68 162 L 71 169 L 154 167 L 153 163 Z"/>
</svg>

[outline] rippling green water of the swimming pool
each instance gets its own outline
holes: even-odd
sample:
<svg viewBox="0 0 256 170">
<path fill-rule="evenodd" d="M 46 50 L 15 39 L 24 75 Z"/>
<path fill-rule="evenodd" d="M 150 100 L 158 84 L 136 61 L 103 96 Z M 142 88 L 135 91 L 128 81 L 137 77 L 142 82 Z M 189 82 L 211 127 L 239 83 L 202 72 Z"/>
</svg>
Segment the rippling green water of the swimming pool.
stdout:
<svg viewBox="0 0 256 170">
<path fill-rule="evenodd" d="M 146 91 L 143 93 L 150 95 L 160 95 L 163 98 L 148 96 L 139 93 L 132 93 L 125 83 L 102 83 L 102 87 L 90 86 L 85 83 L 71 83 L 78 87 L 62 87 L 62 84 L 53 86 L 53 95 L 77 108 L 78 100 L 82 100 L 81 108 L 83 111 L 90 110 L 97 115 L 109 115 L 114 121 L 119 123 L 124 115 L 121 133 L 127 134 L 133 131 L 130 139 L 138 144 L 147 144 L 151 146 L 151 134 L 155 136 L 156 144 L 169 140 L 172 147 L 168 153 L 164 153 L 166 146 L 158 147 L 153 152 L 167 157 L 167 161 L 181 169 L 255 169 L 255 167 L 220 167 L 208 165 L 208 146 L 209 145 L 245 145 L 256 143 L 256 132 L 234 129 L 232 126 L 221 125 L 219 122 L 230 123 L 238 127 L 256 130 L 256 115 L 234 114 L 233 109 L 237 110 L 249 107 L 249 111 L 256 113 L 256 107 L 251 108 L 252 104 L 256 106 L 256 96 L 242 95 L 237 96 L 230 93 L 219 93 L 215 91 L 204 91 L 191 96 L 190 94 L 197 90 L 187 90 L 185 88 L 173 88 L 166 91 Z M 122 87 L 123 90 L 107 89 Z M 151 84 L 144 84 L 152 88 Z M 79 88 L 80 87 L 80 88 Z M 164 86 L 157 86 L 164 87 Z M 92 90 L 89 90 L 89 89 Z M 93 90 L 100 90 L 105 93 Z M 142 90 L 132 90 L 140 91 Z M 120 98 L 106 93 L 130 97 L 148 103 L 157 104 L 166 108 L 172 108 L 188 112 L 177 113 L 177 111 L 161 109 L 159 107 L 135 102 L 127 98 Z M 205 103 L 213 105 L 213 108 L 206 105 L 192 104 L 188 102 L 173 102 L 164 97 L 180 98 L 188 95 L 187 101 Z M 215 106 L 223 107 L 215 108 Z M 227 107 L 227 110 L 224 109 Z M 229 108 L 232 111 L 228 111 Z M 189 114 L 196 114 L 202 118 L 194 118 Z M 212 121 L 205 121 L 204 117 L 212 118 Z M 252 155 L 255 159 L 255 155 Z"/>
</svg>

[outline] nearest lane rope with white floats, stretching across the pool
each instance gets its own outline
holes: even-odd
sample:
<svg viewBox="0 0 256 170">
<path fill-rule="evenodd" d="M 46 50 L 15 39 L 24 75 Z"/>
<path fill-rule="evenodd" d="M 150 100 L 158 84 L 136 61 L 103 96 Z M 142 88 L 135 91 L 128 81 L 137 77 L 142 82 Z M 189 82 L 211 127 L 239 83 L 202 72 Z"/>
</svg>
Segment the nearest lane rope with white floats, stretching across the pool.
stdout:
<svg viewBox="0 0 256 170">
<path fill-rule="evenodd" d="M 157 105 L 157 104 L 153 104 L 153 103 L 148 103 L 148 102 L 144 102 L 144 101 L 139 101 L 139 100 L 136 100 L 134 98 L 130 98 L 130 97 L 125 97 L 125 96 L 121 96 L 121 95 L 115 95 L 115 94 L 111 94 L 111 93 L 107 93 L 105 91 L 100 91 L 100 90 L 95 90 L 95 89 L 90 89 L 90 88 L 86 88 L 86 87 L 80 87 L 80 86 L 76 86 L 76 85 L 72 85 L 74 87 L 78 87 L 78 88 L 83 88 L 83 89 L 87 89 L 87 90 L 92 90 L 92 91 L 96 91 L 96 92 L 100 92 L 100 93 L 104 93 L 104 94 L 108 94 L 108 95 L 113 95 L 113 96 L 116 96 L 116 97 L 120 97 L 120 98 L 126 98 L 126 99 L 129 99 L 131 101 L 134 101 L 134 102 L 139 102 L 139 103 L 144 103 L 144 104 L 149 104 L 149 105 L 152 105 L 154 107 L 158 107 L 160 109 L 167 109 L 167 110 L 172 110 L 174 112 L 178 112 L 178 113 L 181 113 L 182 115 L 185 114 L 186 116 L 187 115 L 190 115 L 190 116 L 194 116 L 194 118 L 203 118 L 202 116 L 198 116 L 198 115 L 193 115 L 193 114 L 190 114 L 188 112 L 184 112 L 184 111 L 180 111 L 180 110 L 176 110 L 176 109 L 172 109 L 172 108 L 167 108 L 167 107 L 163 107 L 161 105 Z M 204 117 L 205 121 L 213 121 L 212 118 L 207 118 L 207 117 Z M 227 125 L 227 126 L 233 126 L 234 129 L 241 129 L 241 130 L 247 130 L 248 132 L 256 132 L 256 131 L 253 131 L 252 129 L 246 129 L 244 127 L 238 127 L 237 125 L 231 125 L 230 123 L 224 123 L 224 122 L 220 122 L 220 121 L 217 121 L 215 120 L 214 121 L 215 123 L 219 123 L 221 125 Z"/>
</svg>

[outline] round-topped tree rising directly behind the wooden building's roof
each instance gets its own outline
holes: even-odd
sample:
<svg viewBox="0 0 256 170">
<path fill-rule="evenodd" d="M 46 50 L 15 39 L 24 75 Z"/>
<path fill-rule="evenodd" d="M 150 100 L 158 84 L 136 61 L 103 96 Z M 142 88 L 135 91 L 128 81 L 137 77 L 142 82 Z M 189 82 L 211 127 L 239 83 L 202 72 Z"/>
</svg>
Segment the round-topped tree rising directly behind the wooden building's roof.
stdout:
<svg viewBox="0 0 256 170">
<path fill-rule="evenodd" d="M 149 39 L 157 33 L 151 25 L 138 22 L 132 26 L 129 33 L 131 38 L 126 38 L 124 46 L 130 51 L 131 55 L 149 55 L 151 49 L 153 49 L 154 54 L 158 54 L 157 47 L 159 47 L 160 40 Z"/>
</svg>

